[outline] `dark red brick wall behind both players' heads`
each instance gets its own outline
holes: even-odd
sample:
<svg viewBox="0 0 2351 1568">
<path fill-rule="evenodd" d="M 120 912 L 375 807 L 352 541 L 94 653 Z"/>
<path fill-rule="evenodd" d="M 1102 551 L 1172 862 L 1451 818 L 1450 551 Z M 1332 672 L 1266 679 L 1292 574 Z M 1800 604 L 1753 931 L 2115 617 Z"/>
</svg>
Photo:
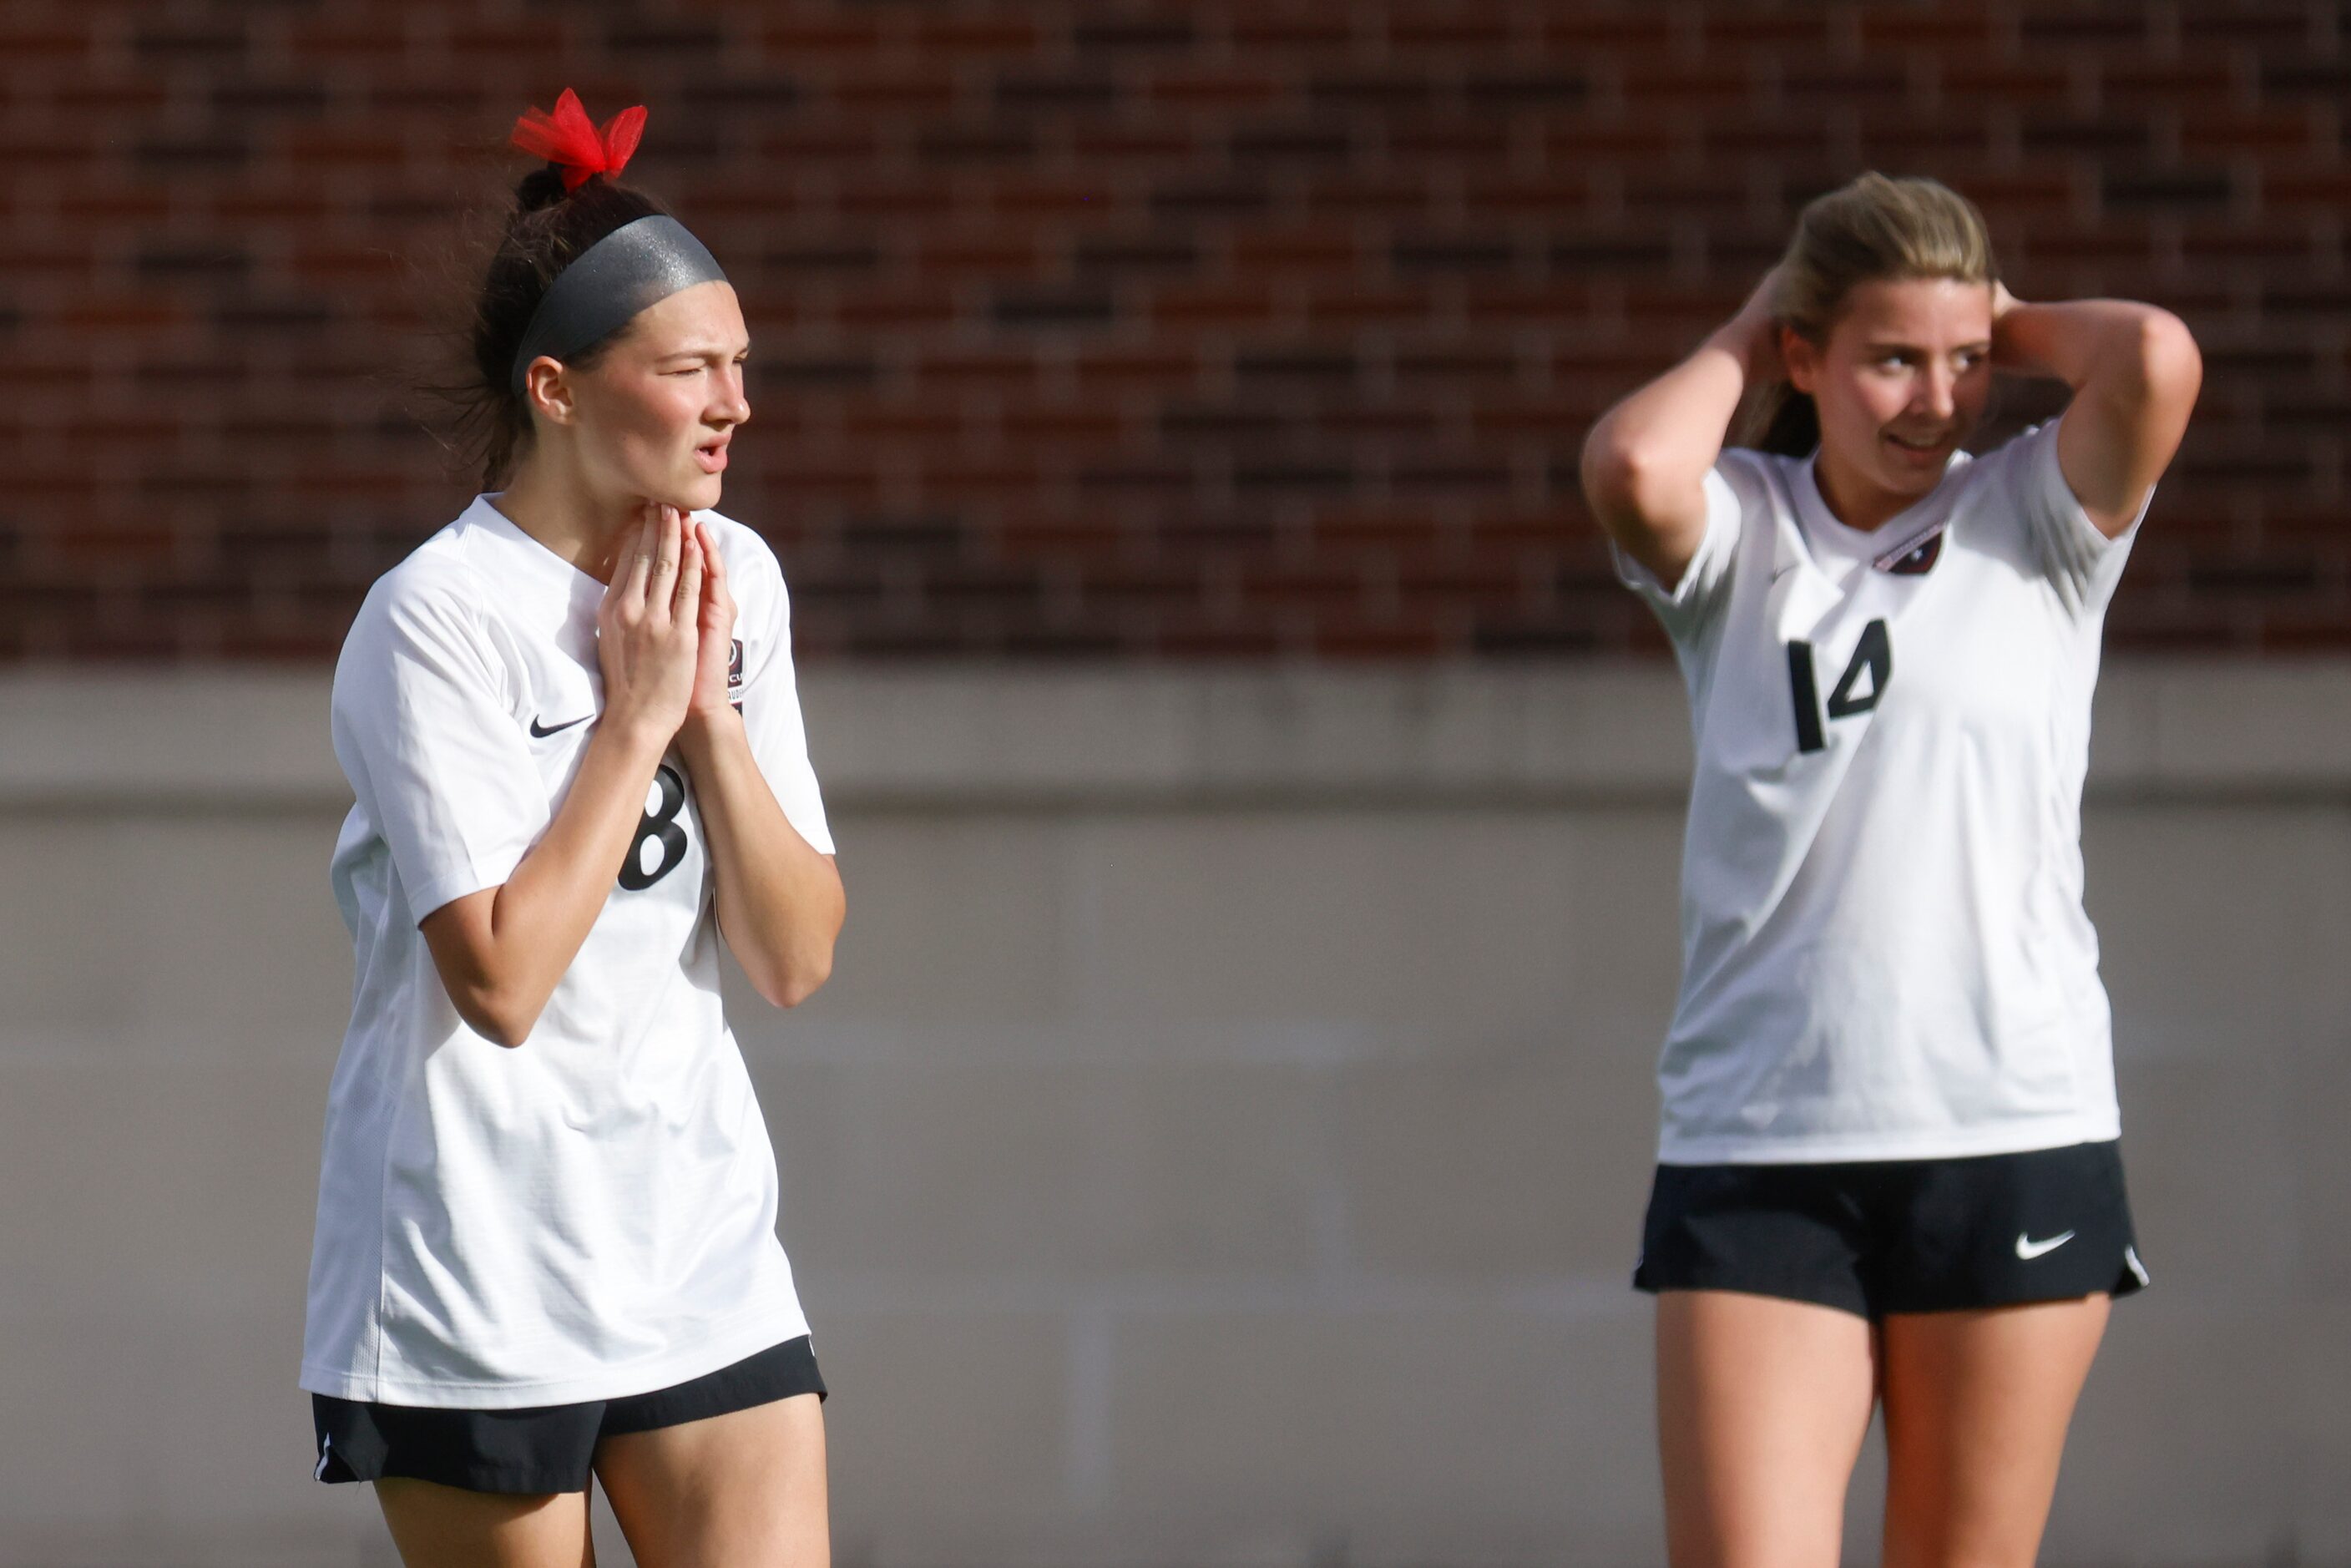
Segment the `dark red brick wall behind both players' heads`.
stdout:
<svg viewBox="0 0 2351 1568">
<path fill-rule="evenodd" d="M 470 494 L 400 414 L 402 259 L 567 82 L 651 106 L 632 176 L 748 301 L 726 510 L 811 656 L 1655 649 L 1580 435 L 1867 165 L 1972 193 L 2027 296 L 2196 327 L 2114 642 L 2342 649 L 2346 45 L 2316 0 L 0 0 L 0 661 L 334 649 Z"/>
</svg>

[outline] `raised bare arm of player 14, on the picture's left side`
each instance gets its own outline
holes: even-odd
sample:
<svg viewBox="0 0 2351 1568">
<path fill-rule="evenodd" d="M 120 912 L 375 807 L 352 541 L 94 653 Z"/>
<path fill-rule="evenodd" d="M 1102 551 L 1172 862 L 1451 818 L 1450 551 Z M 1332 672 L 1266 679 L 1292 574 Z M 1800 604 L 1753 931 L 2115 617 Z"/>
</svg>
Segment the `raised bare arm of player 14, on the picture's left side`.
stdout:
<svg viewBox="0 0 2351 1568">
<path fill-rule="evenodd" d="M 1622 400 L 1585 437 L 1585 501 L 1608 538 L 1674 588 L 1707 531 L 1707 470 L 1749 381 L 1780 374 L 1766 277 L 1697 353 Z"/>
</svg>

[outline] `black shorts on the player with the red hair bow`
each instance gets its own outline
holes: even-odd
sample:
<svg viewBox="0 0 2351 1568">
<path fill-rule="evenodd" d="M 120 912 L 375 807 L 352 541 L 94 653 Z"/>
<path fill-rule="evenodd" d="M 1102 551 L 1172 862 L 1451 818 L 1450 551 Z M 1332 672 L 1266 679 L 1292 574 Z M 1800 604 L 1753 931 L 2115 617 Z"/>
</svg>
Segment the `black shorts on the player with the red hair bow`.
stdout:
<svg viewBox="0 0 2351 1568">
<path fill-rule="evenodd" d="M 809 1335 L 734 1366 L 621 1399 L 527 1410 L 442 1410 L 310 1394 L 320 1481 L 407 1476 L 470 1493 L 583 1493 L 595 1446 L 623 1432 L 682 1427 L 795 1394 L 823 1399 Z"/>
</svg>

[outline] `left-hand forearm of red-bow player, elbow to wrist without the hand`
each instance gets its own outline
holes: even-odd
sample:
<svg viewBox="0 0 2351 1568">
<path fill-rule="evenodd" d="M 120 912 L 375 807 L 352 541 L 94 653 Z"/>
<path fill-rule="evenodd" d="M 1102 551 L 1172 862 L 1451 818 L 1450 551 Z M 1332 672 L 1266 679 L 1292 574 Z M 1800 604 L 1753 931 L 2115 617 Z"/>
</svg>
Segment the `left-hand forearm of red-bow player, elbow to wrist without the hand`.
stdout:
<svg viewBox="0 0 2351 1568">
<path fill-rule="evenodd" d="M 426 940 L 458 1016 L 520 1046 L 604 912 L 661 764 L 649 733 L 597 722 L 548 832 L 496 889 L 426 919 Z"/>
</svg>

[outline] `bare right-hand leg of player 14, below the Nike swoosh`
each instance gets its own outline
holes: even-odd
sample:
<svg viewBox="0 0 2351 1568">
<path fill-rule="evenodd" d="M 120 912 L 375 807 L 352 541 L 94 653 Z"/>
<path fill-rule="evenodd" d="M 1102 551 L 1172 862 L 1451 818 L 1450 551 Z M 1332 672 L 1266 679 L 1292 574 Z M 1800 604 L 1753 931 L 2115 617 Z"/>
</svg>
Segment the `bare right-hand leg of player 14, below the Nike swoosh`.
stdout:
<svg viewBox="0 0 2351 1568">
<path fill-rule="evenodd" d="M 1886 1319 L 1886 1568 L 2031 1568 L 2109 1305 Z"/>
</svg>

